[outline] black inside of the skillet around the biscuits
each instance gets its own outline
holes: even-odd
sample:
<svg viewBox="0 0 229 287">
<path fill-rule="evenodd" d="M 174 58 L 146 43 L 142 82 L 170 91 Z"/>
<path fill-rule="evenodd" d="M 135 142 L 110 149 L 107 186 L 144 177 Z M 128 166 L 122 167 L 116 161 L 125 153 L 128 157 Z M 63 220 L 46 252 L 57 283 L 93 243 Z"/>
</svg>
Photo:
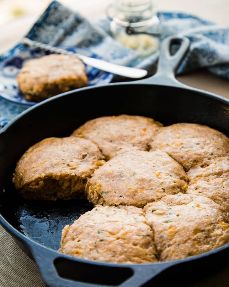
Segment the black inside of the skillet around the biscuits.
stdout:
<svg viewBox="0 0 229 287">
<path fill-rule="evenodd" d="M 205 93 L 166 86 L 123 84 L 71 92 L 31 109 L 0 137 L 0 212 L 31 239 L 59 248 L 61 229 L 92 209 L 87 200 L 28 201 L 20 198 L 12 175 L 20 156 L 50 136 L 68 136 L 89 119 L 104 115 L 143 115 L 169 125 L 209 125 L 229 135 L 229 104 Z"/>
</svg>

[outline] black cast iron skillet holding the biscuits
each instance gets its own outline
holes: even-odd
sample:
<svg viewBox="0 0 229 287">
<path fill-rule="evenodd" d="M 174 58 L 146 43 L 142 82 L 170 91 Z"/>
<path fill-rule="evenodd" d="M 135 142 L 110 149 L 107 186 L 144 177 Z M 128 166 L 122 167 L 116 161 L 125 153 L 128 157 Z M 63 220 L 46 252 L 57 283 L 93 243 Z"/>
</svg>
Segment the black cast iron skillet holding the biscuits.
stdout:
<svg viewBox="0 0 229 287">
<path fill-rule="evenodd" d="M 181 45 L 171 55 L 174 42 Z M 16 162 L 29 146 L 46 137 L 70 135 L 87 120 L 105 115 L 143 115 L 165 125 L 200 123 L 229 135 L 229 100 L 174 78 L 188 48 L 187 38 L 169 37 L 163 42 L 155 76 L 64 93 L 29 108 L 0 131 L 0 223 L 35 260 L 47 286 L 139 287 L 156 282 L 184 286 L 227 265 L 229 244 L 199 256 L 154 264 L 112 264 L 60 254 L 55 250 L 61 229 L 92 205 L 86 200 L 26 201 L 11 182 Z"/>
</svg>

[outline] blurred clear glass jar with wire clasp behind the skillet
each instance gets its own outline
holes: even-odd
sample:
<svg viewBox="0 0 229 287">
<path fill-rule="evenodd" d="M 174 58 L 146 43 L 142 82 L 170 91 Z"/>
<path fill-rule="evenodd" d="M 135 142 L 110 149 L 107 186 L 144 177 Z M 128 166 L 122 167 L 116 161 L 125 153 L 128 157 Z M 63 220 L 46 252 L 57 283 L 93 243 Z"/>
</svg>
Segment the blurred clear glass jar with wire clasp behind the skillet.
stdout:
<svg viewBox="0 0 229 287">
<path fill-rule="evenodd" d="M 160 21 L 152 0 L 116 0 L 108 11 L 113 14 L 110 30 L 117 41 L 142 57 L 158 50 Z"/>
</svg>

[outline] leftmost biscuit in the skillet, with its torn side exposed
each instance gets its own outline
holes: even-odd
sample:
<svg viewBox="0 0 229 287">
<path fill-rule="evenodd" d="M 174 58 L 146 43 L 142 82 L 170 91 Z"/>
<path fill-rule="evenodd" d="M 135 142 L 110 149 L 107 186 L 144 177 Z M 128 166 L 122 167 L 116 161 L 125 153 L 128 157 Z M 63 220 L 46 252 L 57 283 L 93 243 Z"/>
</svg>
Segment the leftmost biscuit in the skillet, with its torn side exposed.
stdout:
<svg viewBox="0 0 229 287">
<path fill-rule="evenodd" d="M 29 199 L 70 199 L 84 195 L 87 179 L 104 163 L 96 144 L 77 137 L 47 138 L 17 163 L 13 182 Z"/>
</svg>

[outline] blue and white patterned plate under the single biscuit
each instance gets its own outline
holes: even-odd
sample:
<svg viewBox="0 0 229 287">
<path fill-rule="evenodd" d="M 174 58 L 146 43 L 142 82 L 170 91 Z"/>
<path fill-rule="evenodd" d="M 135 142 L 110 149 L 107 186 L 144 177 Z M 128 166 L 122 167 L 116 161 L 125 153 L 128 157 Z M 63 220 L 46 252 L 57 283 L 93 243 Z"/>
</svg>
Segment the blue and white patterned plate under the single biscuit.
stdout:
<svg viewBox="0 0 229 287">
<path fill-rule="evenodd" d="M 64 47 L 68 51 L 76 52 L 84 56 L 102 59 L 97 54 L 82 48 L 76 47 Z M 17 83 L 17 75 L 20 72 L 20 69 L 23 65 L 31 59 L 40 58 L 45 55 L 49 55 L 50 52 L 42 51 L 40 49 L 28 49 L 26 52 L 22 52 L 19 55 L 8 58 L 0 65 L 0 96 L 4 99 L 7 99 L 11 102 L 17 104 L 23 104 L 32 106 L 35 105 L 35 102 L 29 102 L 26 100 L 24 95 L 19 91 Z M 101 71 L 96 68 L 85 65 L 86 73 L 88 76 L 88 85 L 100 85 L 110 83 L 113 74 Z"/>
</svg>

